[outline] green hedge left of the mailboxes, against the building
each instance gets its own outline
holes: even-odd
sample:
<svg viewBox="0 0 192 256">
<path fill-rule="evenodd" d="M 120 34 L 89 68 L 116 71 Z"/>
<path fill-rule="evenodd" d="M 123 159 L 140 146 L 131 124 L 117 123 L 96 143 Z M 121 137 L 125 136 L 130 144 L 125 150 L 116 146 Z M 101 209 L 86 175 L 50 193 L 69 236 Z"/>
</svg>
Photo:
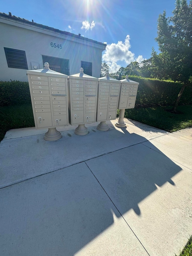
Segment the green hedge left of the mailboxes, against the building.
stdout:
<svg viewBox="0 0 192 256">
<path fill-rule="evenodd" d="M 31 103 L 28 82 L 0 81 L 0 106 L 28 103 Z"/>
</svg>

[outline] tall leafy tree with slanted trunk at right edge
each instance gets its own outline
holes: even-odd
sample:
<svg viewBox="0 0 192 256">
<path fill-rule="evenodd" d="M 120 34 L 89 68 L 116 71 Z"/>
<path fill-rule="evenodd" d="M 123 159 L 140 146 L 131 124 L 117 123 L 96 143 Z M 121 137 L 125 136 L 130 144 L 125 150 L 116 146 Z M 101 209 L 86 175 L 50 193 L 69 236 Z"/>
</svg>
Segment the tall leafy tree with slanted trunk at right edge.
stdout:
<svg viewBox="0 0 192 256">
<path fill-rule="evenodd" d="M 186 86 L 192 84 L 192 0 L 177 0 L 173 16 L 166 12 L 158 18 L 158 42 L 160 54 L 152 53 L 152 62 L 157 66 L 161 79 L 172 79 L 183 83 L 173 112 Z"/>
</svg>

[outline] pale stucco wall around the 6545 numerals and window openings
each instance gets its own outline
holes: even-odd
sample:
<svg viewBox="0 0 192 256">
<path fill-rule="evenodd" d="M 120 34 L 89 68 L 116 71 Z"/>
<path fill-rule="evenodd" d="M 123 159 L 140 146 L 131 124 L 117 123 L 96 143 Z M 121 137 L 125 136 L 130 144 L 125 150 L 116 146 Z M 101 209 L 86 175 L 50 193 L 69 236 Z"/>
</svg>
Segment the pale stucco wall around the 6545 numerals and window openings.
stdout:
<svg viewBox="0 0 192 256">
<path fill-rule="evenodd" d="M 32 69 L 31 62 L 38 62 L 39 68 L 43 68 L 42 55 L 45 55 L 69 59 L 70 75 L 79 73 L 81 61 L 92 62 L 93 77 L 101 75 L 103 46 L 2 18 L 0 32 L 1 81 L 10 81 L 10 79 L 28 81 L 25 69 L 8 68 L 4 47 L 25 51 L 29 70 Z M 61 44 L 62 49 L 51 47 L 51 42 Z"/>
</svg>

